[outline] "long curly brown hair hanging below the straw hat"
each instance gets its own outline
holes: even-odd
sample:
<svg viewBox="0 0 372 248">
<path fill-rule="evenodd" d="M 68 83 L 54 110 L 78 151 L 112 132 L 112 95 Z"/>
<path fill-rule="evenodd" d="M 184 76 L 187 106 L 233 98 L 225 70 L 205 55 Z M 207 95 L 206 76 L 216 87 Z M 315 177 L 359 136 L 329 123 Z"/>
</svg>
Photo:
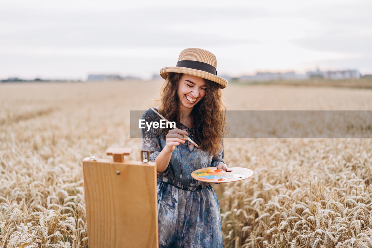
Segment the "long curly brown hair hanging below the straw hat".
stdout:
<svg viewBox="0 0 372 248">
<path fill-rule="evenodd" d="M 169 121 L 179 122 L 179 102 L 177 95 L 179 80 L 183 74 L 170 73 L 161 87 L 159 112 Z M 193 127 L 192 139 L 202 150 L 216 155 L 222 149 L 222 137 L 226 134 L 226 107 L 222 102 L 222 92 L 218 84 L 204 79 L 206 85 L 205 96 L 190 113 Z M 163 129 L 165 137 L 169 129 Z"/>
</svg>

